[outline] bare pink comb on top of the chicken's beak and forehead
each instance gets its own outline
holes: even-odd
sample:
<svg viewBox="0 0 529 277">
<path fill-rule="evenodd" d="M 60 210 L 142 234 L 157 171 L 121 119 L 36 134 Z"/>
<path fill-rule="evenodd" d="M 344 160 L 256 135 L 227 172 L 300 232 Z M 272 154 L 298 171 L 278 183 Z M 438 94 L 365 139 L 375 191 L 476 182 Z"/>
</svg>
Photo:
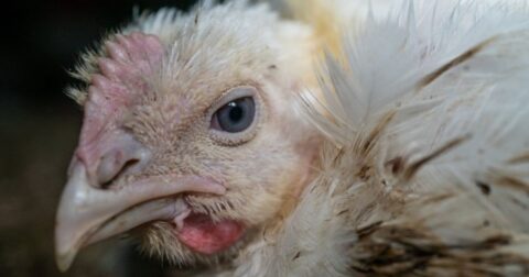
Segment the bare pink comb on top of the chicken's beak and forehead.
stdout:
<svg viewBox="0 0 529 277">
<path fill-rule="evenodd" d="M 132 33 L 117 35 L 107 42 L 108 57 L 98 59 L 100 74 L 93 76 L 85 104 L 85 121 L 76 151 L 77 158 L 87 166 L 89 176 L 97 176 L 105 154 L 118 159 L 123 152 L 115 151 L 122 145 L 123 132 L 119 129 L 120 117 L 132 104 L 134 96 L 150 88 L 144 81 L 158 70 L 164 54 L 160 40 L 154 35 Z M 119 166 L 119 165 L 116 165 Z"/>
</svg>

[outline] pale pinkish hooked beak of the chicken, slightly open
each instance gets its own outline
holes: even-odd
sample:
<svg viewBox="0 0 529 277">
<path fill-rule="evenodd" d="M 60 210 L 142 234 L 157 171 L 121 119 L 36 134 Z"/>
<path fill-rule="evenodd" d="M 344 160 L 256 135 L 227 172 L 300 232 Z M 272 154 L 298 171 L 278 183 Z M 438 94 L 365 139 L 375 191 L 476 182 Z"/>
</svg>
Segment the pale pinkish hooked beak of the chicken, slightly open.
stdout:
<svg viewBox="0 0 529 277">
<path fill-rule="evenodd" d="M 91 186 L 83 163 L 74 162 L 63 191 L 55 224 L 55 253 L 62 272 L 88 244 L 156 221 L 177 221 L 190 212 L 182 192 L 223 195 L 224 186 L 197 176 L 156 176 L 123 187 Z"/>
</svg>

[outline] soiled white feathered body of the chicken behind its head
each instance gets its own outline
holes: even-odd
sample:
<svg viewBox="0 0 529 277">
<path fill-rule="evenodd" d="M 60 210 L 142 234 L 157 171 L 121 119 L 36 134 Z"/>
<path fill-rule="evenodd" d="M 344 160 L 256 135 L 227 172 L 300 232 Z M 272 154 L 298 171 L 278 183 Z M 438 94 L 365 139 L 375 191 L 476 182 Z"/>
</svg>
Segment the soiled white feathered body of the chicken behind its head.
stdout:
<svg viewBox="0 0 529 277">
<path fill-rule="evenodd" d="M 327 60 L 320 176 L 236 276 L 529 275 L 529 12 L 400 7 Z"/>
</svg>

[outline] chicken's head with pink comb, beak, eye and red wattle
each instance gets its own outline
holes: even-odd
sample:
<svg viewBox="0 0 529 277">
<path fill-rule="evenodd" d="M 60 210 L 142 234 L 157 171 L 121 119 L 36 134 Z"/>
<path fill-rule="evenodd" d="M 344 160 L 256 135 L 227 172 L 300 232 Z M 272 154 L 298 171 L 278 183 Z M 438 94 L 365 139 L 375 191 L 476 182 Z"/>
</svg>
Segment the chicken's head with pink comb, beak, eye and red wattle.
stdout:
<svg viewBox="0 0 529 277">
<path fill-rule="evenodd" d="M 148 251 L 192 263 L 233 255 L 273 225 L 310 180 L 319 140 L 293 104 L 310 67 L 289 52 L 309 47 L 289 42 L 303 31 L 262 7 L 203 7 L 179 20 L 161 12 L 88 55 L 60 267 L 132 229 Z"/>
</svg>

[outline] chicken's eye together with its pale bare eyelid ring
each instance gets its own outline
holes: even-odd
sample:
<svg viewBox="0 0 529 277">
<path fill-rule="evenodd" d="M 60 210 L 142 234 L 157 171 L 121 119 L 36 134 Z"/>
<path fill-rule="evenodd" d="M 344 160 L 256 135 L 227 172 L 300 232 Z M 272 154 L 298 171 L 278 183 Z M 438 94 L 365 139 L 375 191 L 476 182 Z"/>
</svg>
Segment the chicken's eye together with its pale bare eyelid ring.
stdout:
<svg viewBox="0 0 529 277">
<path fill-rule="evenodd" d="M 261 113 L 260 102 L 258 91 L 253 87 L 241 86 L 228 90 L 207 113 L 212 137 L 217 143 L 228 146 L 250 141 L 257 133 Z"/>
</svg>

